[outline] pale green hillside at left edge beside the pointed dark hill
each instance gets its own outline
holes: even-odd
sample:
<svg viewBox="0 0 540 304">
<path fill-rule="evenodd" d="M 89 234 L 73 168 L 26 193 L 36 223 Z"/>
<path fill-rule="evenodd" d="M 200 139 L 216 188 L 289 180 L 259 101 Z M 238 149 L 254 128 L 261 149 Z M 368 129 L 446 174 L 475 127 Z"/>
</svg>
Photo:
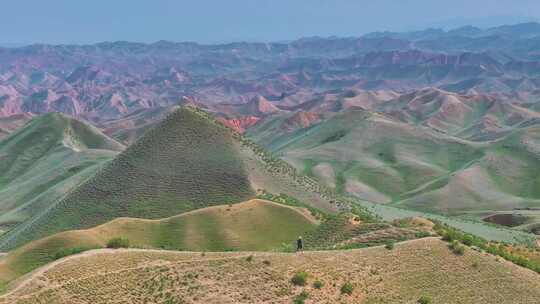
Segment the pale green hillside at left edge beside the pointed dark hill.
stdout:
<svg viewBox="0 0 540 304">
<path fill-rule="evenodd" d="M 0 226 L 47 209 L 124 147 L 96 128 L 52 113 L 0 141 Z"/>
</svg>

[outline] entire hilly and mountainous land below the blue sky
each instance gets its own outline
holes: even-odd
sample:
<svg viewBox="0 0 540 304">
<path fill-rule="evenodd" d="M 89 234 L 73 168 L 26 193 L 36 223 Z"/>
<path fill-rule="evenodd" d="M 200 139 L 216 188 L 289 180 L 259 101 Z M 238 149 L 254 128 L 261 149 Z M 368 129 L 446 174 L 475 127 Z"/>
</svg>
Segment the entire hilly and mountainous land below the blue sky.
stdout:
<svg viewBox="0 0 540 304">
<path fill-rule="evenodd" d="M 537 303 L 539 42 L 0 48 L 0 303 Z"/>
</svg>

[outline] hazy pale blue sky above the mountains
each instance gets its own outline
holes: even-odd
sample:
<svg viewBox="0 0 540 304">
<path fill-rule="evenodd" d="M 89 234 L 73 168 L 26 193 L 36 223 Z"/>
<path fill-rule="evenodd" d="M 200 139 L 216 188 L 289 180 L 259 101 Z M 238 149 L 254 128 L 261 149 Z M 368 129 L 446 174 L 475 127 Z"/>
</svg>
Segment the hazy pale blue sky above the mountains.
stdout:
<svg viewBox="0 0 540 304">
<path fill-rule="evenodd" d="M 225 42 L 540 18 L 539 0 L 6 0 L 0 43 Z"/>
</svg>

